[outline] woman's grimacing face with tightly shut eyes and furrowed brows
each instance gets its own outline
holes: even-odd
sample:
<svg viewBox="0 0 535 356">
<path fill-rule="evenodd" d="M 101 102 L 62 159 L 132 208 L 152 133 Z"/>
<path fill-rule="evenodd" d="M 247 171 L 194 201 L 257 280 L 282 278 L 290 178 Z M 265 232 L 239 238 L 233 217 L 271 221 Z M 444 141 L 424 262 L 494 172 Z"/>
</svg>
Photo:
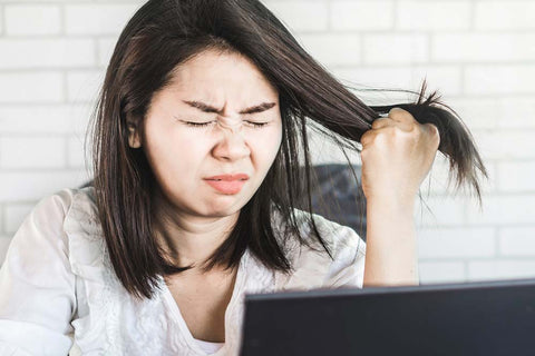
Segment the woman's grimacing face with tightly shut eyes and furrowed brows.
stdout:
<svg viewBox="0 0 535 356">
<path fill-rule="evenodd" d="M 145 150 L 167 202 L 198 217 L 237 212 L 282 139 L 276 90 L 245 57 L 215 51 L 175 70 L 171 85 L 154 95 L 143 125 L 143 141 L 134 135 L 130 146 Z M 240 176 L 214 178 L 224 175 Z"/>
</svg>

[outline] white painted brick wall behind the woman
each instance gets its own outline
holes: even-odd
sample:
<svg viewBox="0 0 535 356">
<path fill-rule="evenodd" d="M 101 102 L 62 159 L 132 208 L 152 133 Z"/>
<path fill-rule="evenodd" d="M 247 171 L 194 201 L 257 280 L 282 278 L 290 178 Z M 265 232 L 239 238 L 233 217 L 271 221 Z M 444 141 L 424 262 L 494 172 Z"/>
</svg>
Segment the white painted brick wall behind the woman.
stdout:
<svg viewBox="0 0 535 356">
<path fill-rule="evenodd" d="M 117 36 L 143 2 L 0 0 L 0 263 L 37 200 L 88 179 L 91 105 Z M 483 212 L 466 194 L 448 194 L 441 156 L 421 187 L 421 280 L 535 276 L 535 2 L 265 3 L 354 88 L 418 90 L 427 77 L 476 138 L 490 174 Z M 358 95 L 369 103 L 411 99 Z M 341 159 L 314 146 L 325 151 L 318 162 Z"/>
</svg>

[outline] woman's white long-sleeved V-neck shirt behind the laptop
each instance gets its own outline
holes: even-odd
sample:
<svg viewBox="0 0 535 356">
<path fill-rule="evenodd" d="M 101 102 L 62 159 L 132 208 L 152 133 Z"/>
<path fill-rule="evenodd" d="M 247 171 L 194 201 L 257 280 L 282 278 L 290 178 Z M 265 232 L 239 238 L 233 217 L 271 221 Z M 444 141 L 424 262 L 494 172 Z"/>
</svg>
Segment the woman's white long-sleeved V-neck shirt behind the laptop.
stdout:
<svg viewBox="0 0 535 356">
<path fill-rule="evenodd" d="M 152 299 L 126 291 L 109 261 L 94 188 L 64 189 L 25 219 L 0 269 L 0 355 L 67 355 L 71 347 L 82 355 L 236 355 L 245 293 L 362 287 L 364 241 L 315 218 L 334 260 L 295 241 L 288 246 L 295 271 L 285 276 L 246 250 L 225 313 L 225 343 L 210 345 L 192 336 L 162 276 Z"/>
</svg>

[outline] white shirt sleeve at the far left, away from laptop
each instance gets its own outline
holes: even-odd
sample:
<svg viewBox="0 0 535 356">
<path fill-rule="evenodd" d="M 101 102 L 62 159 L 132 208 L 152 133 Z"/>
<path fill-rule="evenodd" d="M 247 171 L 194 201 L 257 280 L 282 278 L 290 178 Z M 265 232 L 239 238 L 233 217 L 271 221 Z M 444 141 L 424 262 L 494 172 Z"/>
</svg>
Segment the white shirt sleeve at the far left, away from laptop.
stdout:
<svg viewBox="0 0 535 356">
<path fill-rule="evenodd" d="M 0 355 L 67 355 L 77 308 L 64 220 L 72 195 L 42 199 L 14 235 L 0 268 Z"/>
</svg>

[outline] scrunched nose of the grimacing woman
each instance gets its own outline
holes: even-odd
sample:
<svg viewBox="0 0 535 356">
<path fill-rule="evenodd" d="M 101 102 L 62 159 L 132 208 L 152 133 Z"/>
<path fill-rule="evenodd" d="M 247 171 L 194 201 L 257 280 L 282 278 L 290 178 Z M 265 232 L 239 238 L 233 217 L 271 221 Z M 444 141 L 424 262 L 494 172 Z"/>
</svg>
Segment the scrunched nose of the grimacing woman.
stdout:
<svg viewBox="0 0 535 356">
<path fill-rule="evenodd" d="M 251 155 L 251 150 L 243 137 L 243 130 L 236 127 L 220 128 L 221 136 L 213 148 L 213 156 L 217 159 L 236 161 Z"/>
</svg>

